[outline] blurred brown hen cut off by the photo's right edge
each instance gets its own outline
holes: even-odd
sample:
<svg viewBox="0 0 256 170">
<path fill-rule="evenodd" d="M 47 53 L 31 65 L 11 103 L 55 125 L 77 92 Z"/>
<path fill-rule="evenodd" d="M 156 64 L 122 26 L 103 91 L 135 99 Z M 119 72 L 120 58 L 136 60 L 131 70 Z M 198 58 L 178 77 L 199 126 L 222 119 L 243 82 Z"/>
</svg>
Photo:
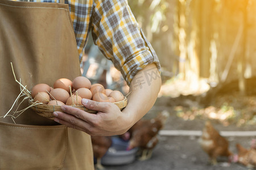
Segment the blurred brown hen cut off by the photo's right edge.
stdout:
<svg viewBox="0 0 256 170">
<path fill-rule="evenodd" d="M 256 168 L 256 150 L 254 148 L 247 150 L 239 143 L 237 143 L 236 147 L 238 151 L 237 162 L 248 168 Z"/>
</svg>

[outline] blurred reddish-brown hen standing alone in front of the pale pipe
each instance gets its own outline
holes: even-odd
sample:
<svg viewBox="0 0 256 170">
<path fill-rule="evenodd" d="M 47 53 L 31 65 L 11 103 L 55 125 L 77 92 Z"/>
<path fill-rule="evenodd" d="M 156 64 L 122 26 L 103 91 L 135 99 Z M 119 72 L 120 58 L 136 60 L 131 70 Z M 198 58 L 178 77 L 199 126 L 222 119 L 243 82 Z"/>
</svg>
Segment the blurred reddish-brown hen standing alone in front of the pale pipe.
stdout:
<svg viewBox="0 0 256 170">
<path fill-rule="evenodd" d="M 217 164 L 217 158 L 219 156 L 230 158 L 230 156 L 233 155 L 232 152 L 229 151 L 229 142 L 213 128 L 209 121 L 205 122 L 199 143 L 208 154 L 209 161 L 212 164 Z"/>
</svg>

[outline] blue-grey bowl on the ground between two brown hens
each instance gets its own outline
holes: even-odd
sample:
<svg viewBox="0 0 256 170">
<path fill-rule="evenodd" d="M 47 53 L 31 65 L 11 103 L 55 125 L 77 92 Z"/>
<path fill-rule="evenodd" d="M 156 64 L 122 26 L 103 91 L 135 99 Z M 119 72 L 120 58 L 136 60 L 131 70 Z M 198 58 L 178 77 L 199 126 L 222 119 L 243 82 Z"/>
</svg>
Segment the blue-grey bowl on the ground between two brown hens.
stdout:
<svg viewBox="0 0 256 170">
<path fill-rule="evenodd" d="M 112 137 L 112 146 L 102 157 L 102 165 L 123 165 L 134 162 L 138 148 L 127 151 L 129 141 L 123 141 L 118 137 Z"/>
</svg>

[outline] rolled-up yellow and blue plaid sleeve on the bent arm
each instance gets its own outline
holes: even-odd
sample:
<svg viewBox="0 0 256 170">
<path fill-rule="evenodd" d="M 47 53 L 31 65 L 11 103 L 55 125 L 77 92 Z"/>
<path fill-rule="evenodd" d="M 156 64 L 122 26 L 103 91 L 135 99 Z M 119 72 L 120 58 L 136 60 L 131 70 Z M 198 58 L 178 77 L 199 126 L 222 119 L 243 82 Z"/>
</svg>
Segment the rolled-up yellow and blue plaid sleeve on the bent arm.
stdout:
<svg viewBox="0 0 256 170">
<path fill-rule="evenodd" d="M 94 44 L 111 59 L 130 84 L 139 70 L 159 59 L 132 14 L 127 1 L 94 1 L 91 31 Z"/>
</svg>

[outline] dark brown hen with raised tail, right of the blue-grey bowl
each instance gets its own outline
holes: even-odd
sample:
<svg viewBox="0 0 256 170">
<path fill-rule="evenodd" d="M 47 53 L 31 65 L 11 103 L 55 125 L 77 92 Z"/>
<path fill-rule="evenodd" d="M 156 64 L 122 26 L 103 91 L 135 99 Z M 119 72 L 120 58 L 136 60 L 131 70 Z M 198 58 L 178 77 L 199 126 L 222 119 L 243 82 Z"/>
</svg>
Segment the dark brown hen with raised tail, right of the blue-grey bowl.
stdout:
<svg viewBox="0 0 256 170">
<path fill-rule="evenodd" d="M 151 158 L 152 149 L 158 143 L 158 132 L 163 128 L 169 113 L 167 111 L 160 112 L 158 116 L 151 120 L 139 120 L 128 131 L 131 135 L 127 150 L 139 147 L 141 157 L 139 160 L 147 160 Z"/>
</svg>

